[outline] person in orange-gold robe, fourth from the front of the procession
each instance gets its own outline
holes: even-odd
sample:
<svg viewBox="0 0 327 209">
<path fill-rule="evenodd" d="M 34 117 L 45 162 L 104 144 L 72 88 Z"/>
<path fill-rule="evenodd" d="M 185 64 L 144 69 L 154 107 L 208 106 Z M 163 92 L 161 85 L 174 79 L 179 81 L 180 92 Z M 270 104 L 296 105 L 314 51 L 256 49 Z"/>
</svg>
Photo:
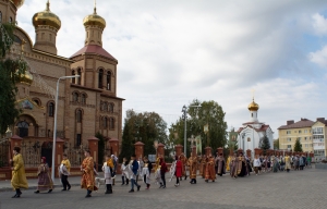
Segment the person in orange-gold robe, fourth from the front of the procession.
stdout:
<svg viewBox="0 0 327 209">
<path fill-rule="evenodd" d="M 93 190 L 97 190 L 98 188 L 95 186 L 95 177 L 94 177 L 94 161 L 90 157 L 90 151 L 88 149 L 84 150 L 85 159 L 81 164 L 82 171 L 82 181 L 81 181 L 81 188 L 86 188 L 87 194 L 85 197 L 92 197 L 90 193 Z"/>
</svg>

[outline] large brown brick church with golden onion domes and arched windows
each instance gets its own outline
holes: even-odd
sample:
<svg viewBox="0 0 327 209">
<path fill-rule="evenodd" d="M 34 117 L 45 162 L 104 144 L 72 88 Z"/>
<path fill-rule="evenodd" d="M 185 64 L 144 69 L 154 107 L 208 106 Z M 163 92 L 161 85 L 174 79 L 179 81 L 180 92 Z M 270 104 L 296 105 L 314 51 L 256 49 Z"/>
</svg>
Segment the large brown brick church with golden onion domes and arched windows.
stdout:
<svg viewBox="0 0 327 209">
<path fill-rule="evenodd" d="M 13 134 L 23 140 L 52 140 L 57 114 L 57 136 L 72 146 L 87 145 L 87 139 L 98 132 L 106 140 L 121 142 L 124 99 L 117 96 L 118 60 L 102 48 L 105 19 L 97 14 L 96 7 L 90 7 L 90 14 L 81 20 L 85 41 L 74 54 L 64 58 L 57 50 L 61 20 L 51 11 L 56 10 L 56 1 L 51 8 L 49 0 L 41 2 L 45 10 L 31 15 L 35 40 L 19 25 L 14 32 L 12 56 L 21 56 L 29 69 L 17 84 L 16 100 L 23 111 L 11 127 Z M 24 0 L 0 0 L 1 23 L 15 23 L 23 3 Z M 57 82 L 72 75 L 80 77 L 60 79 L 58 112 L 55 112 Z"/>
</svg>

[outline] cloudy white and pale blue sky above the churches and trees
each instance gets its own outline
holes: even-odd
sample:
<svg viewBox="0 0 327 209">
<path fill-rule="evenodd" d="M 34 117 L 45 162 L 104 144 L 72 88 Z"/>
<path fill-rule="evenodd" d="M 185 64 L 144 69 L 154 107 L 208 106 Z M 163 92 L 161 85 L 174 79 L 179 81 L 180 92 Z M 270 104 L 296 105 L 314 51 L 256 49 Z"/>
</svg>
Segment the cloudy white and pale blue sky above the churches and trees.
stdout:
<svg viewBox="0 0 327 209">
<path fill-rule="evenodd" d="M 62 23 L 58 54 L 84 47 L 83 19 L 93 0 L 51 0 Z M 17 22 L 35 39 L 32 17 L 46 0 L 26 0 Z M 326 118 L 326 0 L 98 0 L 104 48 L 118 59 L 123 111 L 155 111 L 170 125 L 193 99 L 215 100 L 229 128 L 250 120 Z"/>
</svg>

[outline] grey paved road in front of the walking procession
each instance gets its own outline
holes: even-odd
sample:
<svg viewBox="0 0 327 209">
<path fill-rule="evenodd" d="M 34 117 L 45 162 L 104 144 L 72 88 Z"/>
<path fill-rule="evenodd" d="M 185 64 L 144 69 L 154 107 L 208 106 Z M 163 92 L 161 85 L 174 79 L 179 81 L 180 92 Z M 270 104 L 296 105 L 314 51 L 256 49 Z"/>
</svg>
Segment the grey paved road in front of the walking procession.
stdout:
<svg viewBox="0 0 327 209">
<path fill-rule="evenodd" d="M 291 173 L 267 173 L 232 180 L 228 175 L 219 177 L 216 183 L 191 185 L 182 181 L 175 188 L 170 182 L 167 188 L 152 185 L 145 190 L 129 194 L 129 186 L 116 185 L 112 195 L 105 195 L 104 187 L 85 198 L 85 190 L 74 186 L 70 192 L 55 189 L 52 194 L 33 194 L 24 190 L 20 199 L 10 198 L 13 193 L 0 192 L 1 209 L 27 208 L 289 208 L 323 209 L 326 208 L 327 179 L 325 170 L 308 169 Z"/>
</svg>

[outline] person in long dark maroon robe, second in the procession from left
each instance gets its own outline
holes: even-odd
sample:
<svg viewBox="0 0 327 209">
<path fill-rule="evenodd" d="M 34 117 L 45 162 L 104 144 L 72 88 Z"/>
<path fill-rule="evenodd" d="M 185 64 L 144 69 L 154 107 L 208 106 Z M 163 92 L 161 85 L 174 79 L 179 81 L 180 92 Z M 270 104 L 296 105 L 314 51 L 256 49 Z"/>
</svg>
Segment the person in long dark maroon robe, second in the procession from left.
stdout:
<svg viewBox="0 0 327 209">
<path fill-rule="evenodd" d="M 50 177 L 49 171 L 50 170 L 46 157 L 41 157 L 41 163 L 38 167 L 38 171 L 37 171 L 38 182 L 37 182 L 37 190 L 34 192 L 35 194 L 39 193 L 40 190 L 48 190 L 48 193 L 52 192 L 53 183 Z"/>
</svg>

